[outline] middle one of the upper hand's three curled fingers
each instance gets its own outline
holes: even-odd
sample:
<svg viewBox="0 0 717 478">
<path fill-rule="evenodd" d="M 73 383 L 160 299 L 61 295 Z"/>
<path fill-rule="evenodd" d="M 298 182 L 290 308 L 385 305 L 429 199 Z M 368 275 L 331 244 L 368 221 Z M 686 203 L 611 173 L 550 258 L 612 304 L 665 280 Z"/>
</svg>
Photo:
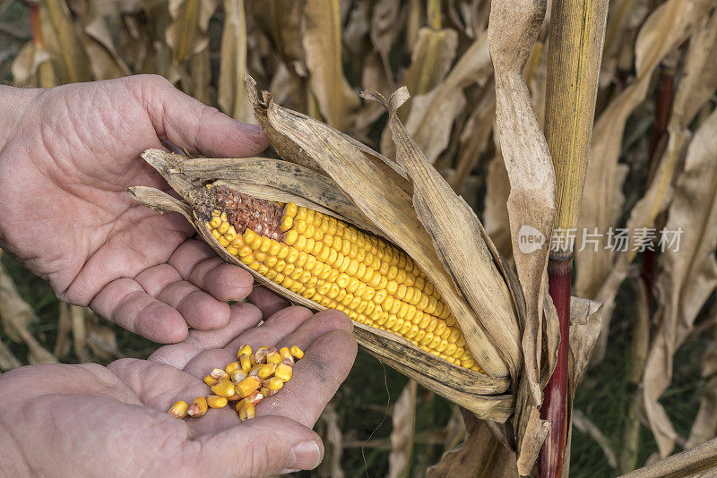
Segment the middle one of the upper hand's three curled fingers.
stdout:
<svg viewBox="0 0 717 478">
<path fill-rule="evenodd" d="M 220 329 L 229 323 L 229 304 L 219 301 L 182 277 L 169 264 L 141 272 L 134 280 L 148 294 L 177 309 L 189 327 Z"/>
</svg>

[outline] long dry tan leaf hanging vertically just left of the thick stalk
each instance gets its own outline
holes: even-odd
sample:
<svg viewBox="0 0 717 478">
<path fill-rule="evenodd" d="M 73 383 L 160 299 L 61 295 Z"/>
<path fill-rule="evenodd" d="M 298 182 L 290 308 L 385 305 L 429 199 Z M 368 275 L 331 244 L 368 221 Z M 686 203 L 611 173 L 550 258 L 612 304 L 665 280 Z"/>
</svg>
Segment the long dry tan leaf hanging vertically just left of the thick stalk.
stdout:
<svg viewBox="0 0 717 478">
<path fill-rule="evenodd" d="M 488 22 L 496 81 L 497 131 L 510 181 L 507 209 L 513 256 L 527 309 L 522 341 L 525 368 L 514 421 L 518 470 L 522 475 L 530 474 L 547 433 L 539 411 L 541 351 L 544 330 L 555 330 L 544 324 L 543 316 L 549 237 L 556 215 L 555 174 L 548 144 L 523 80 L 523 68 L 544 15 L 545 4 L 541 2 L 494 0 Z M 542 242 L 523 242 L 533 236 L 542 237 Z M 557 317 L 549 315 L 545 320 L 556 321 Z M 557 340 L 553 337 L 549 343 L 557 345 Z M 547 350 L 550 366 L 554 365 L 554 354 L 554 350 Z M 550 373 L 551 369 L 547 375 Z"/>
</svg>

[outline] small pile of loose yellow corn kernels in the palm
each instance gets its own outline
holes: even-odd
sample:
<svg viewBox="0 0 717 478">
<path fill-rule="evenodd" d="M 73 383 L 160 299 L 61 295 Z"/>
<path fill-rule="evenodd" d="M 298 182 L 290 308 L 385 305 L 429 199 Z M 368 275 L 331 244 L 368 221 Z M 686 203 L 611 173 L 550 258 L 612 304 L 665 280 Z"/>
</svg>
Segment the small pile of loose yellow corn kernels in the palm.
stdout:
<svg viewBox="0 0 717 478">
<path fill-rule="evenodd" d="M 298 346 L 261 346 L 252 354 L 250 346 L 240 346 L 237 362 L 227 365 L 224 370 L 214 369 L 204 377 L 212 395 L 196 397 L 187 405 L 179 400 L 169 408 L 168 414 L 176 418 L 200 417 L 209 408 L 223 408 L 229 402 L 236 405 L 239 419 L 244 422 L 254 418 L 255 405 L 265 397 L 272 397 L 291 379 L 294 363 L 304 356 Z"/>
</svg>

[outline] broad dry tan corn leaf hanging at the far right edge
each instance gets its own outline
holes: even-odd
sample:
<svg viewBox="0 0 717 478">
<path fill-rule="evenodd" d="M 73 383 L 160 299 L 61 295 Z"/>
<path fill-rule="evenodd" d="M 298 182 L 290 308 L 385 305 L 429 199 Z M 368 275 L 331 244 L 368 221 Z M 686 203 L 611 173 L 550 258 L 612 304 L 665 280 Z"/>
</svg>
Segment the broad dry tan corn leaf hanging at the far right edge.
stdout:
<svg viewBox="0 0 717 478">
<path fill-rule="evenodd" d="M 662 457 L 677 439 L 658 399 L 672 380 L 672 357 L 687 337 L 697 313 L 717 286 L 717 111 L 695 132 L 687 149 L 665 229 L 685 231 L 679 248 L 661 255 L 658 287 L 661 312 L 644 371 L 644 407 Z M 701 205 L 696 208 L 695 205 Z"/>
</svg>

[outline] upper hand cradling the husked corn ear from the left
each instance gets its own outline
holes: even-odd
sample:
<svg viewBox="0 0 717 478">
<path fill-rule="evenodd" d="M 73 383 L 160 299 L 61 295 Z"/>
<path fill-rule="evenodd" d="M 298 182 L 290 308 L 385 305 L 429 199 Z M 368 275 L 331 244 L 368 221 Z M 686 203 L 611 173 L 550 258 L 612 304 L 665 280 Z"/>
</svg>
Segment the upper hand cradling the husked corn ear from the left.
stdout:
<svg viewBox="0 0 717 478">
<path fill-rule="evenodd" d="M 151 340 L 174 343 L 229 321 L 252 277 L 126 192 L 168 185 L 140 153 L 160 139 L 211 157 L 252 156 L 268 142 L 159 76 L 0 87 L 0 247 L 57 296 Z"/>
</svg>

